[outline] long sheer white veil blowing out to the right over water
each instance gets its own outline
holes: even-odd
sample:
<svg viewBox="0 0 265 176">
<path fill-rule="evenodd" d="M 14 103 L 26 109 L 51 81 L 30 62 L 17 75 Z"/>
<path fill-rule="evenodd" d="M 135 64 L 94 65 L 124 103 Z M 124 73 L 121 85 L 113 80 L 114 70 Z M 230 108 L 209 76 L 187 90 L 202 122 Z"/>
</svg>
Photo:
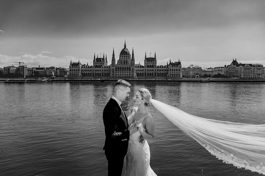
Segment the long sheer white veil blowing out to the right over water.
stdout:
<svg viewBox="0 0 265 176">
<path fill-rule="evenodd" d="M 152 104 L 216 158 L 265 175 L 265 124 L 204 119 L 154 99 Z"/>
</svg>

